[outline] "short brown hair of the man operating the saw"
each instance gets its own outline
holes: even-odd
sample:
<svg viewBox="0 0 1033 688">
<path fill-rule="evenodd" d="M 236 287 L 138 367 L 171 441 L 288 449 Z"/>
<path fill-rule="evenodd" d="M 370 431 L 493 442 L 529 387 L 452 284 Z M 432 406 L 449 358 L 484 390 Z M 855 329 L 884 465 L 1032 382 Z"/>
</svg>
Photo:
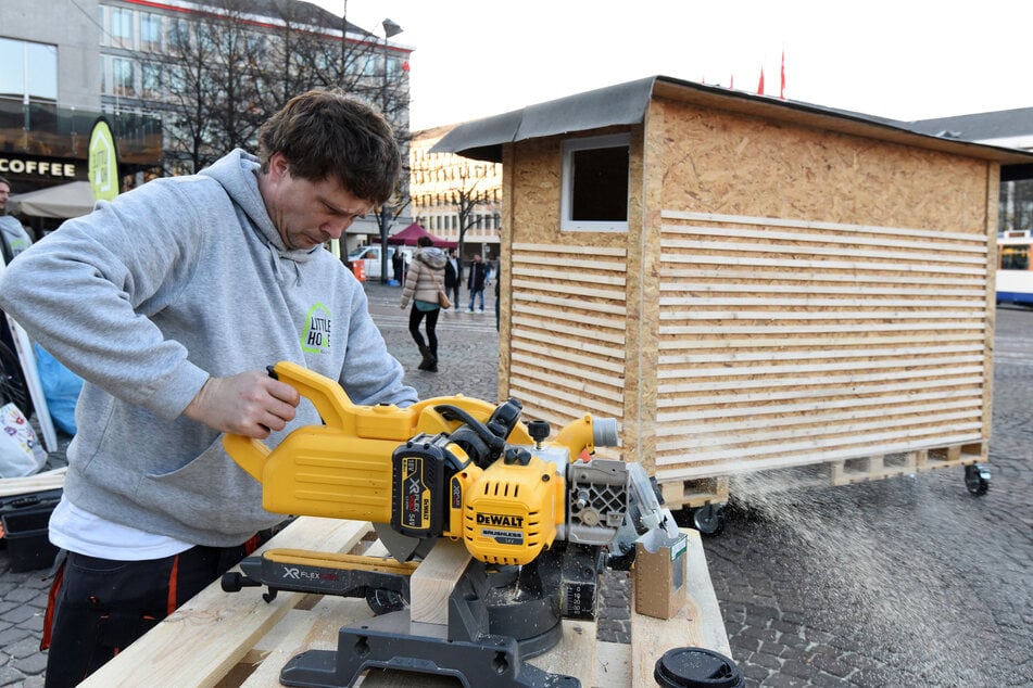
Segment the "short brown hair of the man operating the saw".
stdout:
<svg viewBox="0 0 1033 688">
<path fill-rule="evenodd" d="M 394 132 L 376 110 L 340 90 L 292 98 L 259 130 L 259 158 L 282 153 L 293 176 L 336 177 L 349 192 L 377 205 L 394 193 L 402 158 Z"/>
</svg>

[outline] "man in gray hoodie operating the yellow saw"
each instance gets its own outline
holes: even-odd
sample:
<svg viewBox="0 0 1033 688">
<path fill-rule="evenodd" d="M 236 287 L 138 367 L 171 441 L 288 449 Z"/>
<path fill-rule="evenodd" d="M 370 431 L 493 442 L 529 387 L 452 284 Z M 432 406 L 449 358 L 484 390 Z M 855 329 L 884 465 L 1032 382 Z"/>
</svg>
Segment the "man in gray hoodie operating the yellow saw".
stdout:
<svg viewBox="0 0 1033 688">
<path fill-rule="evenodd" d="M 408 406 L 365 293 L 323 249 L 394 190 L 390 125 L 339 92 L 292 99 L 237 150 L 65 222 L 0 281 L 0 306 L 86 381 L 48 609 L 47 686 L 71 686 L 234 565 L 282 515 L 222 433 L 318 424 L 265 367 L 292 360 L 362 405 Z"/>
</svg>

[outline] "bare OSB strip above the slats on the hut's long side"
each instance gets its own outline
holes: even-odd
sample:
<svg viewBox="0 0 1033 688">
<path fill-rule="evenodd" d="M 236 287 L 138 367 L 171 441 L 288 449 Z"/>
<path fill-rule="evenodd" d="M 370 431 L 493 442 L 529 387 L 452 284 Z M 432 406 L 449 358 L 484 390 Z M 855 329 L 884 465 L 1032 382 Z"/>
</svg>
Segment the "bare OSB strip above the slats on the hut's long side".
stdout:
<svg viewBox="0 0 1033 688">
<path fill-rule="evenodd" d="M 982 233 L 987 163 L 656 99 L 662 207 Z"/>
</svg>

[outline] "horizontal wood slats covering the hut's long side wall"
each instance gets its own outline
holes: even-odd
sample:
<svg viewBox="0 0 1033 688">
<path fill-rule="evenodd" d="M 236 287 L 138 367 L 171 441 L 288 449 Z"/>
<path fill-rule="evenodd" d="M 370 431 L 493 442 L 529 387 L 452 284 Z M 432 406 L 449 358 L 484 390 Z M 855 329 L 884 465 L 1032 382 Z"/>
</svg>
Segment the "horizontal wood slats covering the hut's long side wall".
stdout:
<svg viewBox="0 0 1033 688">
<path fill-rule="evenodd" d="M 658 480 L 986 438 L 981 229 L 660 219 Z"/>
</svg>

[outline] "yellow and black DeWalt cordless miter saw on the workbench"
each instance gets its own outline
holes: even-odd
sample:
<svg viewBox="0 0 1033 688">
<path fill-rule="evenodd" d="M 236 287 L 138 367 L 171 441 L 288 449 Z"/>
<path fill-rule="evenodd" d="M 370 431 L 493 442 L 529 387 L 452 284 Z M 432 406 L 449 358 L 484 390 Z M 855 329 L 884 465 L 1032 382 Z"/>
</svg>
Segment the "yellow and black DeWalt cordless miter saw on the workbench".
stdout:
<svg viewBox="0 0 1033 688">
<path fill-rule="evenodd" d="M 593 459 L 617 444 L 614 419 L 584 416 L 546 442 L 521 405 L 462 395 L 408 408 L 353 405 L 337 382 L 291 362 L 269 368 L 311 400 L 324 425 L 275 448 L 227 435 L 226 450 L 263 485 L 265 509 L 369 521 L 390 558 L 272 549 L 241 562 L 223 588 L 364 597 L 378 615 L 340 629 L 337 651 L 310 650 L 288 686 L 353 685 L 370 667 L 451 675 L 473 686 L 563 686 L 522 660 L 552 648 L 563 619 L 594 619 L 604 565 L 628 568 L 635 542 L 682 540 L 638 463 Z M 436 542 L 462 542 L 470 563 L 448 624 L 410 617 L 410 577 Z"/>
</svg>

